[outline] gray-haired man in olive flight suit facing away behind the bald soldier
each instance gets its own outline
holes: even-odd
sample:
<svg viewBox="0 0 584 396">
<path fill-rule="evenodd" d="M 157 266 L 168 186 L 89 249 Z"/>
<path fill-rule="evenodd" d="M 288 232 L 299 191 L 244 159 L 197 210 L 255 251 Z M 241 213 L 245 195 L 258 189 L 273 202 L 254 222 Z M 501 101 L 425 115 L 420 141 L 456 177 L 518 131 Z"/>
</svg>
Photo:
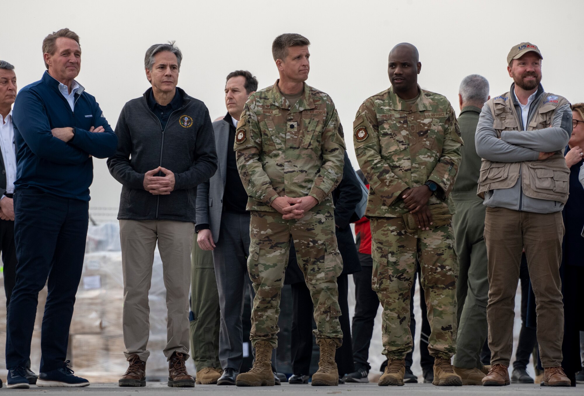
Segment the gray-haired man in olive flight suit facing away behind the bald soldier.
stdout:
<svg viewBox="0 0 584 396">
<path fill-rule="evenodd" d="M 481 75 L 468 75 L 460 83 L 458 126 L 465 145 L 461 148 L 463 159 L 450 196 L 456 207 L 452 223 L 460 266 L 456 282 L 458 333 L 453 366 L 463 385 L 482 385 L 486 374 L 481 350 L 487 333 L 489 281 L 483 237 L 485 206 L 477 197 L 481 157 L 477 155 L 474 140 L 481 108 L 489 99 L 489 82 Z"/>
</svg>

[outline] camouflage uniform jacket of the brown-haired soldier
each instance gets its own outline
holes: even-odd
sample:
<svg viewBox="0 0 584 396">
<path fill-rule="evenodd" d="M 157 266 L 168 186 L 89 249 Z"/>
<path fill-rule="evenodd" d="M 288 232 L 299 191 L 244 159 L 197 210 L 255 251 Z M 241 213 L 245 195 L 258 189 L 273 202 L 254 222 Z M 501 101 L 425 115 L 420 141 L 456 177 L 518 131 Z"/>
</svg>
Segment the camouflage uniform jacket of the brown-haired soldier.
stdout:
<svg viewBox="0 0 584 396">
<path fill-rule="evenodd" d="M 343 128 L 331 98 L 304 84 L 290 109 L 278 81 L 249 96 L 237 124 L 234 150 L 248 193 L 247 210 L 276 211 L 278 196 L 311 195 L 332 207 L 343 174 Z"/>
</svg>

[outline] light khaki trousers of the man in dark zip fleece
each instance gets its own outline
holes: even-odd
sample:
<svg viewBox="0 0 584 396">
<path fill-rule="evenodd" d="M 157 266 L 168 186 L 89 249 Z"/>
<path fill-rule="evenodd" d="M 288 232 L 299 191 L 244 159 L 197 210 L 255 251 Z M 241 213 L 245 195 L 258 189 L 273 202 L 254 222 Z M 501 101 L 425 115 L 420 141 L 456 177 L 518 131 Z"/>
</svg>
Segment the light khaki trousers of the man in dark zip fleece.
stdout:
<svg viewBox="0 0 584 396">
<path fill-rule="evenodd" d="M 190 250 L 194 224 L 171 220 L 120 220 L 121 265 L 124 275 L 123 331 L 126 359 L 150 356 L 150 307 L 148 290 L 152 279 L 154 249 L 162 259 L 166 287 L 166 348 L 189 357 Z"/>
</svg>

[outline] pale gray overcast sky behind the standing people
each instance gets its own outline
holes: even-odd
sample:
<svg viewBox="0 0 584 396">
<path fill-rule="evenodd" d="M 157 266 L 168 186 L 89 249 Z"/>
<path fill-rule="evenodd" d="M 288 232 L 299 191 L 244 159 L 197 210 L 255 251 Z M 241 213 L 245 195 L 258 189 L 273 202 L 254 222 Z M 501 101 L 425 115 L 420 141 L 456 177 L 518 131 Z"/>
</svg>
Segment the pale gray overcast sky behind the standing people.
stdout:
<svg viewBox="0 0 584 396">
<path fill-rule="evenodd" d="M 446 95 L 457 111 L 458 85 L 468 74 L 486 77 L 491 95 L 509 89 L 507 53 L 522 41 L 540 47 L 546 91 L 572 103 L 584 101 L 581 0 L 5 3 L 0 59 L 15 65 L 19 88 L 43 74 L 43 38 L 69 27 L 81 37 L 77 79 L 95 95 L 112 127 L 124 103 L 149 86 L 144 53 L 151 44 L 176 40 L 184 55 L 179 86 L 203 100 L 215 119 L 226 112 L 223 88 L 229 72 L 247 69 L 262 88 L 276 81 L 272 40 L 291 32 L 312 42 L 307 83 L 335 101 L 354 167 L 354 115 L 363 100 L 389 86 L 387 55 L 402 41 L 418 47 L 420 86 Z M 117 207 L 119 183 L 105 160 L 93 163 L 91 207 Z"/>
</svg>

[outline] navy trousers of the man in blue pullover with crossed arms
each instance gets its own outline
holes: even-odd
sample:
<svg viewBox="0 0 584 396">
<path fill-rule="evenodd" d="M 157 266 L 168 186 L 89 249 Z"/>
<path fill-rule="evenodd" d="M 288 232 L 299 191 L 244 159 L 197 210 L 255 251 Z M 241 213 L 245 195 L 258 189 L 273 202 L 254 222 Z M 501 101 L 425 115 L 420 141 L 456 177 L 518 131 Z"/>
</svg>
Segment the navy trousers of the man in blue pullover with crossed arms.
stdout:
<svg viewBox="0 0 584 396">
<path fill-rule="evenodd" d="M 48 294 L 41 327 L 40 372 L 62 367 L 81 279 L 89 203 L 19 189 L 14 196 L 16 285 L 6 323 L 6 367 L 26 366 L 39 291 Z"/>
</svg>

